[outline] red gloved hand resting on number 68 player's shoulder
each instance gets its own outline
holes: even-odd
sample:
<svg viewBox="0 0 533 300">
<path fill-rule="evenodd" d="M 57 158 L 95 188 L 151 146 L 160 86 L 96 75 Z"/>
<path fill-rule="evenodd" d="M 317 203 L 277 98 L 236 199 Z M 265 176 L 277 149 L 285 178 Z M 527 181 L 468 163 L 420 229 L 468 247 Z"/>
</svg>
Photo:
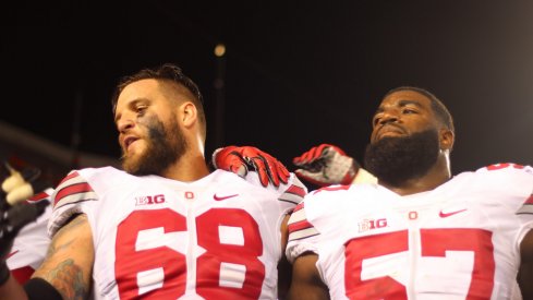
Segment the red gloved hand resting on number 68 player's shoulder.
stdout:
<svg viewBox="0 0 533 300">
<path fill-rule="evenodd" d="M 218 148 L 213 153 L 211 163 L 215 168 L 234 172 L 242 178 L 246 177 L 250 170 L 256 171 L 263 187 L 267 187 L 268 182 L 279 187 L 280 182 L 287 183 L 290 177 L 283 164 L 256 147 Z"/>
</svg>

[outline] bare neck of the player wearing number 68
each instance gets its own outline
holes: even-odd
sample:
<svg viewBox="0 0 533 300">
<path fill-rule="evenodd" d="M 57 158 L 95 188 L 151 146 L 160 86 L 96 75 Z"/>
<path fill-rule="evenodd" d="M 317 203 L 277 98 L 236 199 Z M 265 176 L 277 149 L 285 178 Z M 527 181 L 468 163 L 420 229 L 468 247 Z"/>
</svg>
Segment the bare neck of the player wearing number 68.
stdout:
<svg viewBox="0 0 533 300">
<path fill-rule="evenodd" d="M 202 154 L 187 153 L 178 161 L 170 165 L 161 176 L 178 181 L 191 182 L 206 177 L 209 172 L 209 168 Z"/>
</svg>

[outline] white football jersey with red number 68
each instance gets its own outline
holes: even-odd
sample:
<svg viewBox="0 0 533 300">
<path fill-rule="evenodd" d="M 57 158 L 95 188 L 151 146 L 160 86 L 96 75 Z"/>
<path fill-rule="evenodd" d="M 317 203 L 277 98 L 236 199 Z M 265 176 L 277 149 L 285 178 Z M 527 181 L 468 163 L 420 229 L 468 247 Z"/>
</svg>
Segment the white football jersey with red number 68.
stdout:
<svg viewBox="0 0 533 300">
<path fill-rule="evenodd" d="M 276 299 L 280 225 L 305 192 L 293 175 L 275 189 L 223 170 L 186 183 L 83 169 L 56 189 L 49 232 L 87 215 L 97 299 Z"/>
</svg>

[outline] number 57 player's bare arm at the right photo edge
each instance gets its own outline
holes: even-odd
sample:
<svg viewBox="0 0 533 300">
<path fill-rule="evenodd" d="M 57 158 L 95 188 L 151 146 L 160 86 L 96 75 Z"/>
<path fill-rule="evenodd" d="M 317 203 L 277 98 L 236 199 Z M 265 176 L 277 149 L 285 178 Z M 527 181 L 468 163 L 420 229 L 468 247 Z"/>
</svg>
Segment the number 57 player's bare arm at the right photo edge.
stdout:
<svg viewBox="0 0 533 300">
<path fill-rule="evenodd" d="M 533 299 L 533 230 L 530 230 L 520 244 L 520 271 L 518 284 L 523 299 Z"/>
</svg>

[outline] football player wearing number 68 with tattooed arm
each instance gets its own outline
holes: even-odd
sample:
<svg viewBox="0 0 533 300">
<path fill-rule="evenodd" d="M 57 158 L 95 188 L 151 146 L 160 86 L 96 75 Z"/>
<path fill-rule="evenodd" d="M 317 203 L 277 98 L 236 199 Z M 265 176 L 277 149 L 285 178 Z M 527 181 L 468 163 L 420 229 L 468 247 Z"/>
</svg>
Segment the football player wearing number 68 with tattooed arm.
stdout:
<svg viewBox="0 0 533 300">
<path fill-rule="evenodd" d="M 281 228 L 305 187 L 276 164 L 256 184 L 210 172 L 202 96 L 173 64 L 125 77 L 112 104 L 123 170 L 62 180 L 46 260 L 24 290 L 3 278 L 0 298 L 275 299 Z M 244 165 L 266 155 L 232 151 Z"/>
</svg>

